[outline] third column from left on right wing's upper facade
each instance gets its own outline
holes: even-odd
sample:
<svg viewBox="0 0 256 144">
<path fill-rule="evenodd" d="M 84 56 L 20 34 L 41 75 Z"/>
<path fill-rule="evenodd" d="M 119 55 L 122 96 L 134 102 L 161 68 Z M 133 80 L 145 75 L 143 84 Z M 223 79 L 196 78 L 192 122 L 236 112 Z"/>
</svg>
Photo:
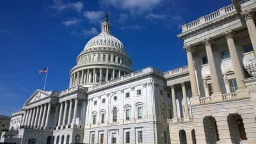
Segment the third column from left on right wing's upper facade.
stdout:
<svg viewBox="0 0 256 144">
<path fill-rule="evenodd" d="M 244 73 L 243 73 L 241 61 L 239 61 L 239 57 L 238 57 L 237 50 L 236 50 L 236 45 L 235 45 L 235 42 L 233 39 L 234 32 L 232 30 L 229 30 L 229 31 L 226 31 L 224 33 L 224 35 L 227 38 L 228 50 L 230 52 L 230 58 L 231 58 L 234 72 L 236 75 L 237 87 L 244 88 L 245 84 L 242 82 L 242 79 L 244 78 Z"/>
</svg>

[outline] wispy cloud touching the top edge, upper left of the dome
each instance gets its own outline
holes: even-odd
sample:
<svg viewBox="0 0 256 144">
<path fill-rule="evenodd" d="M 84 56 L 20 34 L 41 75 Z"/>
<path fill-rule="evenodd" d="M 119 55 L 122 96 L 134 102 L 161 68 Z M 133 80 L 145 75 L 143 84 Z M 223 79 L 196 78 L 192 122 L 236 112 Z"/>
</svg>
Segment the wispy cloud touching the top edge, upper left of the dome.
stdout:
<svg viewBox="0 0 256 144">
<path fill-rule="evenodd" d="M 59 12 L 67 9 L 75 10 L 76 12 L 81 12 L 83 10 L 83 3 L 77 1 L 76 3 L 63 3 L 62 0 L 52 0 L 54 5 L 49 6 L 50 8 L 56 9 Z"/>
</svg>

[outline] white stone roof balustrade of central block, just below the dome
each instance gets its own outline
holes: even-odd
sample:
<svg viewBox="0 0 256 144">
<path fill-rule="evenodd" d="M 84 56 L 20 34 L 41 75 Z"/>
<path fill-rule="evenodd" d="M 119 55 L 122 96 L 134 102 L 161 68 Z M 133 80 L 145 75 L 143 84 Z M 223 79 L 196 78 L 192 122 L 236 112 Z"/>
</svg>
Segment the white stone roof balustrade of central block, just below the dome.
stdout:
<svg viewBox="0 0 256 144">
<path fill-rule="evenodd" d="M 132 72 L 132 73 L 127 74 L 125 76 L 121 76 L 121 77 L 118 77 L 116 79 L 112 79 L 110 81 L 92 86 L 92 87 L 88 88 L 88 91 L 95 90 L 97 88 L 102 88 L 104 86 L 109 86 L 109 84 L 119 83 L 120 81 L 123 81 L 123 80 L 132 79 L 132 78 L 138 77 L 138 76 L 143 76 L 144 74 L 148 74 L 148 73 L 154 73 L 154 74 L 157 74 L 158 76 L 163 76 L 163 73 L 159 72 L 159 70 L 157 70 L 156 68 L 147 67 L 147 68 L 143 68 L 142 70 L 139 70 L 137 72 Z"/>
</svg>

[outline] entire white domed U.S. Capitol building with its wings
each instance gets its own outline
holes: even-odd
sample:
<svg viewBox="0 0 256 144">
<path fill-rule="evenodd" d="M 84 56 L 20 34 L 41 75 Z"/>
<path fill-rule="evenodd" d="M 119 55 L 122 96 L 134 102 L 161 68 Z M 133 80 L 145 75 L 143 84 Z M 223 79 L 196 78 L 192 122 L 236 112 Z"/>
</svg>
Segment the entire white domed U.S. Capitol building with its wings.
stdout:
<svg viewBox="0 0 256 144">
<path fill-rule="evenodd" d="M 188 66 L 133 72 L 125 47 L 101 33 L 77 56 L 61 92 L 36 90 L 2 142 L 256 143 L 256 0 L 233 0 L 184 24 Z"/>
</svg>

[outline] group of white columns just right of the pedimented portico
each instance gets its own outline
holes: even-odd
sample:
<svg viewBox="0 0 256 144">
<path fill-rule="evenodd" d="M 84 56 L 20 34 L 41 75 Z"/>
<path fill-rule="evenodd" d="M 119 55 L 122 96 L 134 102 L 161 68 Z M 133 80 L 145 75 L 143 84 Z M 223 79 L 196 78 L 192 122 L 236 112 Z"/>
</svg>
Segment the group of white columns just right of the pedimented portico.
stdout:
<svg viewBox="0 0 256 144">
<path fill-rule="evenodd" d="M 74 101 L 74 109 L 73 109 L 73 101 Z M 59 114 L 58 125 L 57 125 L 58 127 L 63 128 L 65 127 L 65 125 L 76 124 L 77 104 L 78 104 L 78 99 L 75 99 L 75 100 L 70 99 L 70 100 L 66 100 L 65 102 L 60 102 L 60 114 Z M 63 111 L 63 108 L 64 108 L 64 111 Z M 71 117 L 72 113 L 73 113 L 73 118 Z"/>
</svg>

